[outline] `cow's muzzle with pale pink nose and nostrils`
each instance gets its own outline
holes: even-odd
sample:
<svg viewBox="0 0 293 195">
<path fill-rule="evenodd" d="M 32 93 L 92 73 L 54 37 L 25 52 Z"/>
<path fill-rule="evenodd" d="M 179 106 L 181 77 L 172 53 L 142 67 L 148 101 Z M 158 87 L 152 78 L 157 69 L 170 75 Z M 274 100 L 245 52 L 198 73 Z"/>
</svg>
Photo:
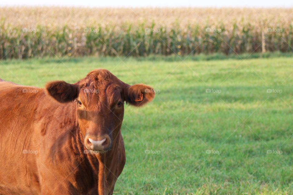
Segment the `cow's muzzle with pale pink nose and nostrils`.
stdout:
<svg viewBox="0 0 293 195">
<path fill-rule="evenodd" d="M 111 139 L 108 135 L 102 137 L 87 135 L 85 137 L 85 147 L 93 151 L 108 151 L 111 149 Z"/>
</svg>

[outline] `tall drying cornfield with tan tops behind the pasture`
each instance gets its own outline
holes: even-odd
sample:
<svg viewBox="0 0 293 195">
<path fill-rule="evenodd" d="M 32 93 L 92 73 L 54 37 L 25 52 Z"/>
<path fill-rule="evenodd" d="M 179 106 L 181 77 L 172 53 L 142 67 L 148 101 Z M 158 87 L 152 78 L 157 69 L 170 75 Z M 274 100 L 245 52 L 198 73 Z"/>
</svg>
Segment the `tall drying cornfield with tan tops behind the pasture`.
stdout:
<svg viewBox="0 0 293 195">
<path fill-rule="evenodd" d="M 293 9 L 0 8 L 0 59 L 293 51 Z"/>
</svg>

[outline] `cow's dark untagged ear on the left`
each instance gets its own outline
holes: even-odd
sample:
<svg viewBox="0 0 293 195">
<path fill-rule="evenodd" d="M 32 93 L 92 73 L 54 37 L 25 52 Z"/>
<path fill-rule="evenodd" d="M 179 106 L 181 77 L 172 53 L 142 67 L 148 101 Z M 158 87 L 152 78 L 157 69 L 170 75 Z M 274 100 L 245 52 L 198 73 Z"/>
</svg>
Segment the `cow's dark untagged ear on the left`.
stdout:
<svg viewBox="0 0 293 195">
<path fill-rule="evenodd" d="M 46 84 L 46 91 L 59 102 L 73 101 L 78 97 L 79 86 L 65 81 L 52 81 Z"/>
</svg>

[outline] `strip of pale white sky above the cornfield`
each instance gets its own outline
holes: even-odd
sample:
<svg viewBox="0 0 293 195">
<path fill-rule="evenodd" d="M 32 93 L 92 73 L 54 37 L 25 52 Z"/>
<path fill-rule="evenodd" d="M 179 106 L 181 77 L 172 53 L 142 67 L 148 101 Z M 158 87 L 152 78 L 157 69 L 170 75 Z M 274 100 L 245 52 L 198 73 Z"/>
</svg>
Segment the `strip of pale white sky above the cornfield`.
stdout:
<svg viewBox="0 0 293 195">
<path fill-rule="evenodd" d="M 0 6 L 46 5 L 83 7 L 293 7 L 292 0 L 1 0 Z"/>
</svg>

